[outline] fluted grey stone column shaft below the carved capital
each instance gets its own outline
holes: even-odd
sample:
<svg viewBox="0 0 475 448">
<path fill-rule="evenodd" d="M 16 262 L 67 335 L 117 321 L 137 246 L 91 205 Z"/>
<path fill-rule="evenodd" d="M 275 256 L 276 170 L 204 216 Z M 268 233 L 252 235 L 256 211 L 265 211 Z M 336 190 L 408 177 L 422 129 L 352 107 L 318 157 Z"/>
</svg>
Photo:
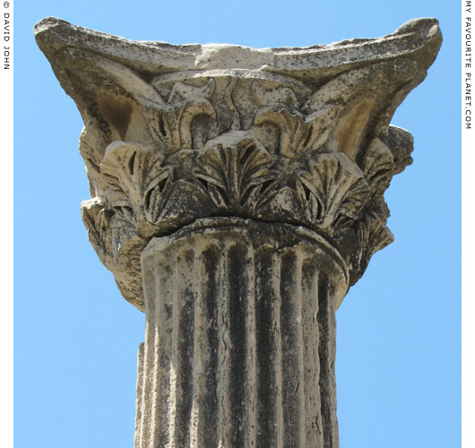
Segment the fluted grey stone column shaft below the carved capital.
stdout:
<svg viewBox="0 0 475 448">
<path fill-rule="evenodd" d="M 348 285 L 314 232 L 202 220 L 142 254 L 136 448 L 337 447 L 334 310 Z"/>
</svg>

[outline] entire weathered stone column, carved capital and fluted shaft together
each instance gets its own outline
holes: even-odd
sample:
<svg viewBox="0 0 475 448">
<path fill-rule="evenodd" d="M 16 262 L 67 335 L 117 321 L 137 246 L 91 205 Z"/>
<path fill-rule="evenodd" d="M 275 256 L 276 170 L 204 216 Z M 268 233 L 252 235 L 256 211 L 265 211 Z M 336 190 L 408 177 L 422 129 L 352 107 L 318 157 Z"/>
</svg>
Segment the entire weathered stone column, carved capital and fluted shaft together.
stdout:
<svg viewBox="0 0 475 448">
<path fill-rule="evenodd" d="M 304 48 L 35 33 L 84 121 L 89 239 L 147 314 L 135 446 L 337 447 L 334 311 L 393 241 L 390 121 L 436 20 Z"/>
</svg>

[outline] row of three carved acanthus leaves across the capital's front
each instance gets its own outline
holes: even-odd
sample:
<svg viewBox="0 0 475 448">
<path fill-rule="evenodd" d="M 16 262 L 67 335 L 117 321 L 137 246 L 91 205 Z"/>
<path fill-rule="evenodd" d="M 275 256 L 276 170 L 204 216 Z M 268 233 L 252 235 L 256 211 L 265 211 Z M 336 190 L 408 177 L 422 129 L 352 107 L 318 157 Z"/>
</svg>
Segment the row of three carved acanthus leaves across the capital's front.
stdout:
<svg viewBox="0 0 475 448">
<path fill-rule="evenodd" d="M 218 137 L 195 154 L 192 182 L 173 181 L 174 167 L 163 156 L 142 145 L 115 142 L 100 164 L 99 195 L 125 220 L 158 225 L 177 185 L 202 191 L 217 209 L 194 216 L 190 211 L 192 219 L 220 211 L 256 218 L 263 205 L 290 188 L 300 207 L 297 219 L 332 235 L 358 220 L 370 194 L 363 173 L 342 153 L 315 156 L 307 170 L 298 171 L 295 187 L 285 184 L 275 159 L 250 132 Z"/>
</svg>

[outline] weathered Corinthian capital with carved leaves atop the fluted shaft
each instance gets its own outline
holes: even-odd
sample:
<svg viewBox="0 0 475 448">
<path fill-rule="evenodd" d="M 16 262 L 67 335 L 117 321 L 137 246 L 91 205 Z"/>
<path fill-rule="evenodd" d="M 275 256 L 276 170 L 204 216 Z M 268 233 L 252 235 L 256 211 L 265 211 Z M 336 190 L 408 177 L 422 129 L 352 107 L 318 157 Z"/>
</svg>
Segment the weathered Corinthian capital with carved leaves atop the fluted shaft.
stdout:
<svg viewBox="0 0 475 448">
<path fill-rule="evenodd" d="M 350 284 L 393 241 L 384 191 L 412 137 L 390 120 L 436 57 L 436 20 L 305 48 L 137 42 L 55 18 L 36 39 L 84 120 L 91 244 L 134 306 L 151 237 L 201 218 L 311 228 Z"/>
</svg>

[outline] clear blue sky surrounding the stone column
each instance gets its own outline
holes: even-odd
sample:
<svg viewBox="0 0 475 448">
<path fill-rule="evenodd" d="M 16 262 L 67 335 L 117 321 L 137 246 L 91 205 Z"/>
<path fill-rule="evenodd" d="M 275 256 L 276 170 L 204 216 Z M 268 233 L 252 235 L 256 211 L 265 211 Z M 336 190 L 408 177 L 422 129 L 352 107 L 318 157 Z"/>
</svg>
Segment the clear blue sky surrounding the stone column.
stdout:
<svg viewBox="0 0 475 448">
<path fill-rule="evenodd" d="M 308 46 L 436 17 L 444 43 L 393 117 L 412 166 L 385 194 L 395 242 L 337 312 L 342 448 L 460 446 L 460 8 L 446 0 L 23 1 L 14 5 L 15 447 L 133 446 L 143 314 L 87 240 L 82 119 L 33 39 L 55 15 L 128 39 Z"/>
</svg>

